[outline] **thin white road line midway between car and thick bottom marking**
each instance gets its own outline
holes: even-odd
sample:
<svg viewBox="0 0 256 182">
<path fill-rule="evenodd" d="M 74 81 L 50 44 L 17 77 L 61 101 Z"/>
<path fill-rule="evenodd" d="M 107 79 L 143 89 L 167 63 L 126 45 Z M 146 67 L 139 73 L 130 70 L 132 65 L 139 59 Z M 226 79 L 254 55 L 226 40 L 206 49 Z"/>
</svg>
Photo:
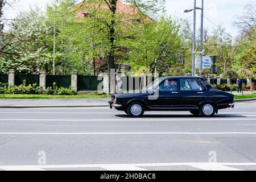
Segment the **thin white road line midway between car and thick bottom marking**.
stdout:
<svg viewBox="0 0 256 182">
<path fill-rule="evenodd" d="M 95 132 L 95 133 L 0 133 L 0 135 L 256 135 L 256 132 Z"/>
</svg>

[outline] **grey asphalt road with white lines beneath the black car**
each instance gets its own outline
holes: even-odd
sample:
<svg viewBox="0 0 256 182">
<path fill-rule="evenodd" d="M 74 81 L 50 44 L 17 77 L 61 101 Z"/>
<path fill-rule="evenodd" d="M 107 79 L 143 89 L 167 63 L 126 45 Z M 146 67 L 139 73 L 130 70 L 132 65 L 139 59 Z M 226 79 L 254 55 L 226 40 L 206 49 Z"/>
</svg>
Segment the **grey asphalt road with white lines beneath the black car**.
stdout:
<svg viewBox="0 0 256 182">
<path fill-rule="evenodd" d="M 210 163 L 209 163 L 210 162 Z M 0 170 L 256 170 L 256 101 L 214 118 L 108 107 L 0 109 Z"/>
</svg>

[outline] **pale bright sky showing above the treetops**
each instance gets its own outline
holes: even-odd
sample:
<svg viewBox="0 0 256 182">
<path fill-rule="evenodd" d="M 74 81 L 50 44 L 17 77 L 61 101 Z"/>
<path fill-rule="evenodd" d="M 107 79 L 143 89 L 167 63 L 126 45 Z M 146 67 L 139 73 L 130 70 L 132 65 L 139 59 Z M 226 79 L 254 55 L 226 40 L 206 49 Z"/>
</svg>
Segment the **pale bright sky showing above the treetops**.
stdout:
<svg viewBox="0 0 256 182">
<path fill-rule="evenodd" d="M 7 0 L 14 1 L 14 0 Z M 54 0 L 16 0 L 14 7 L 5 9 L 6 18 L 14 18 L 19 11 L 28 10 L 30 7 L 38 6 L 44 9 L 47 3 L 53 3 Z M 238 29 L 232 26 L 233 20 L 237 14 L 242 14 L 243 8 L 252 0 L 204 0 L 204 28 L 209 31 L 221 25 L 225 27 L 228 34 L 233 39 L 238 35 Z M 193 20 L 193 12 L 184 13 L 185 9 L 193 9 L 193 0 L 166 0 L 167 14 L 178 16 L 180 18 L 189 18 Z M 197 7 L 201 7 L 201 0 L 196 0 Z M 196 27 L 200 28 L 201 10 L 197 10 Z"/>
</svg>

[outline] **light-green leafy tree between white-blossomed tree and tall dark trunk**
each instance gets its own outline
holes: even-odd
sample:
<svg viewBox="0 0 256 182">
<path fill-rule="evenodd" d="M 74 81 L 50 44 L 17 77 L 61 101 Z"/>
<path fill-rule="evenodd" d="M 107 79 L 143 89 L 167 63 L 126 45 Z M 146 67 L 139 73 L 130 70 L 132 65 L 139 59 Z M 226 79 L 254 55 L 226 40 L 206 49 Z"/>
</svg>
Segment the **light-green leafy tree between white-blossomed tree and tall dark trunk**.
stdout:
<svg viewBox="0 0 256 182">
<path fill-rule="evenodd" d="M 64 0 L 47 7 L 48 23 L 56 27 L 55 36 L 52 32 L 49 38 L 51 45 L 55 40 L 55 70 L 60 75 L 69 74 L 72 69 L 76 69 L 79 75 L 92 75 L 90 59 L 96 51 L 91 45 L 95 42 L 90 41 L 92 37 L 88 24 L 84 23 L 84 19 L 78 19 L 77 11 L 73 11 L 74 3 Z M 51 55 L 53 57 L 53 50 Z"/>
</svg>

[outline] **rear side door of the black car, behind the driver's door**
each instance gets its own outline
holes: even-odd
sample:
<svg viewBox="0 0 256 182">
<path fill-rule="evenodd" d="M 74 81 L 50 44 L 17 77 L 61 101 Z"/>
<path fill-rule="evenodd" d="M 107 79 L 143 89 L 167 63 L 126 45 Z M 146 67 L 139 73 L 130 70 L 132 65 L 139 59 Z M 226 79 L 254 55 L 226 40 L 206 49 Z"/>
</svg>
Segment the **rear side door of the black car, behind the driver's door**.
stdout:
<svg viewBox="0 0 256 182">
<path fill-rule="evenodd" d="M 200 102 L 204 101 L 204 88 L 196 78 L 180 78 L 180 107 L 193 108 L 199 107 Z"/>
</svg>

